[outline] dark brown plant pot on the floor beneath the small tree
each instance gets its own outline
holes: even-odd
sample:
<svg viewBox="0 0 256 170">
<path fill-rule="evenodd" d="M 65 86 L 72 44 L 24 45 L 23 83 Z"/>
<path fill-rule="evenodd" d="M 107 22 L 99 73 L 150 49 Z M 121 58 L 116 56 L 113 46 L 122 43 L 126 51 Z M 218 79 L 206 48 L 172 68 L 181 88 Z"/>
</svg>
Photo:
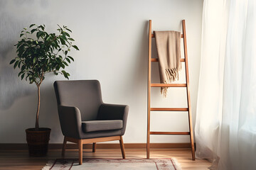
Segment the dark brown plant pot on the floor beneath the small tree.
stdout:
<svg viewBox="0 0 256 170">
<path fill-rule="evenodd" d="M 49 140 L 50 128 L 39 128 L 39 130 L 35 130 L 35 128 L 26 129 L 26 141 L 31 157 L 46 156 Z"/>
</svg>

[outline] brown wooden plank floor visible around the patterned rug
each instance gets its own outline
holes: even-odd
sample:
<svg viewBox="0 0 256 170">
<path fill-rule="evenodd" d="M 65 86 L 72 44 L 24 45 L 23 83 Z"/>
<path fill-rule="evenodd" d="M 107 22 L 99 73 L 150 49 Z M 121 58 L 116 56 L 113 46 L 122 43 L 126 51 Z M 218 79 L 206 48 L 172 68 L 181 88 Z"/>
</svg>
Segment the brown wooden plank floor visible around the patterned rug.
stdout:
<svg viewBox="0 0 256 170">
<path fill-rule="evenodd" d="M 145 159 L 146 149 L 125 149 L 127 159 Z M 151 149 L 151 159 L 176 158 L 182 169 L 203 170 L 208 169 L 210 162 L 202 159 L 191 160 L 190 149 Z M 48 160 L 61 158 L 60 149 L 51 149 L 47 157 L 29 157 L 26 150 L 1 150 L 0 169 L 42 169 Z M 78 150 L 68 149 L 65 158 L 78 158 Z M 121 159 L 120 149 L 84 149 L 83 158 Z"/>
</svg>

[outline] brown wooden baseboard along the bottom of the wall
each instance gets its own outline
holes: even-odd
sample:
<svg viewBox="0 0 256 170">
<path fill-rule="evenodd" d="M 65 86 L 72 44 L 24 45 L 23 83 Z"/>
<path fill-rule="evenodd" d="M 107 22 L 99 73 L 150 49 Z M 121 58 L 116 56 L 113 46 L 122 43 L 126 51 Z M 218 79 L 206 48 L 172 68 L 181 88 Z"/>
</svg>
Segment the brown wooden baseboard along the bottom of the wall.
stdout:
<svg viewBox="0 0 256 170">
<path fill-rule="evenodd" d="M 61 149 L 62 144 L 49 144 L 49 149 Z M 84 149 L 91 149 L 92 144 L 86 144 L 83 146 Z M 119 149 L 120 145 L 118 143 L 98 143 L 97 149 Z M 127 143 L 124 144 L 124 148 L 126 149 L 145 149 L 146 143 Z M 150 148 L 191 148 L 190 143 L 151 143 Z M 22 149 L 28 149 L 27 144 L 0 144 L 0 150 L 22 150 Z M 78 149 L 78 145 L 75 144 L 67 144 L 67 149 Z"/>
</svg>

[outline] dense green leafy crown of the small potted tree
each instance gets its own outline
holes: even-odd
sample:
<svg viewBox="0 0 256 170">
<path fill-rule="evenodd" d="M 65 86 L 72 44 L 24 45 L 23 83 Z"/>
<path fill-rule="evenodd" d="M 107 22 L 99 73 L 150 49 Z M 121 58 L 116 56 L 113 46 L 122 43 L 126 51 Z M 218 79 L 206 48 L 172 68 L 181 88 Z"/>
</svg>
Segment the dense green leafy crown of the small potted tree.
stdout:
<svg viewBox="0 0 256 170">
<path fill-rule="evenodd" d="M 37 86 L 41 85 L 49 72 L 63 74 L 68 79 L 70 74 L 64 69 L 74 61 L 68 52 L 72 48 L 79 49 L 73 45 L 75 40 L 70 37 L 72 31 L 66 26 L 58 27 L 58 34 L 47 33 L 45 25 L 31 24 L 29 28 L 23 28 L 21 40 L 15 45 L 18 56 L 10 62 L 14 64 L 14 69 L 21 69 L 18 77 L 25 78 L 30 84 L 35 83 Z"/>
</svg>

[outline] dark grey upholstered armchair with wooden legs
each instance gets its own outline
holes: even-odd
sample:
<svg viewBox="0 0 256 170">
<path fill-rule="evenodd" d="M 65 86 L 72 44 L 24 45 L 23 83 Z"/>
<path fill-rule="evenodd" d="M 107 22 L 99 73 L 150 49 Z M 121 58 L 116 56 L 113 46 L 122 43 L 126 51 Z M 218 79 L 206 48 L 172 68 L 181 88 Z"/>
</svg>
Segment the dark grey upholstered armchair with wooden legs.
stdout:
<svg viewBox="0 0 256 170">
<path fill-rule="evenodd" d="M 67 142 L 78 144 L 79 164 L 82 164 L 82 145 L 119 140 L 125 159 L 124 135 L 129 106 L 102 102 L 100 82 L 97 80 L 55 81 L 60 126 L 64 135 L 63 156 Z"/>
</svg>

